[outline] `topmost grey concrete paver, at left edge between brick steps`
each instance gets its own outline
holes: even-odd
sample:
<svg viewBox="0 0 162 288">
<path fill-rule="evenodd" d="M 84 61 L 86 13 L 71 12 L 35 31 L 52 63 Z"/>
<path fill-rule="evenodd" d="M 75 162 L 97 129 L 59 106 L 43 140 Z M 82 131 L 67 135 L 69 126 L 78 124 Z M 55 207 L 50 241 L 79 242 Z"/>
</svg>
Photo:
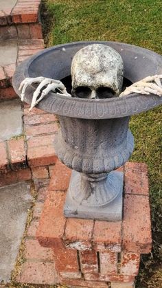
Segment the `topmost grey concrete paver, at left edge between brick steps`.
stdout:
<svg viewBox="0 0 162 288">
<path fill-rule="evenodd" d="M 0 0 L 1 1 L 1 0 Z M 16 63 L 17 58 L 17 41 L 8 40 L 0 43 L 0 65 L 10 65 Z"/>
</svg>

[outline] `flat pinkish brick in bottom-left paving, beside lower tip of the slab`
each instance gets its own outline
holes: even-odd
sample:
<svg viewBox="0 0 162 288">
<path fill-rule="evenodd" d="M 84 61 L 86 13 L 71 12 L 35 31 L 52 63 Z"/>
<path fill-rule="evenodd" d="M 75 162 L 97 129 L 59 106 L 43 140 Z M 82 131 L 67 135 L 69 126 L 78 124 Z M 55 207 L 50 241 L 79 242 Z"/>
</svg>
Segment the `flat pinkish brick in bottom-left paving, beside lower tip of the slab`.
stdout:
<svg viewBox="0 0 162 288">
<path fill-rule="evenodd" d="M 16 278 L 19 283 L 49 284 L 59 282 L 54 263 L 48 262 L 25 262 L 21 275 Z"/>
</svg>

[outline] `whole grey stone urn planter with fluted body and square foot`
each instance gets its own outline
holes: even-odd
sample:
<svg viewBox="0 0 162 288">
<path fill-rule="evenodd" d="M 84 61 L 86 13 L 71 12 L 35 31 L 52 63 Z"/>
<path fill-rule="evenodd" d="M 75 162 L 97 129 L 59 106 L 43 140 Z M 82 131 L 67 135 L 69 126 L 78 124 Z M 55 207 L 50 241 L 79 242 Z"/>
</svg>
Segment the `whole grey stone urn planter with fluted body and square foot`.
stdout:
<svg viewBox="0 0 162 288">
<path fill-rule="evenodd" d="M 13 85 L 20 95 L 24 78 L 44 76 L 61 80 L 71 92 L 71 59 L 82 47 L 101 43 L 113 47 L 124 61 L 126 86 L 146 76 L 162 74 L 162 57 L 147 49 L 113 42 L 78 42 L 45 49 L 16 69 Z M 32 102 L 36 85 L 25 91 Z M 54 141 L 59 159 L 73 169 L 65 216 L 119 221 L 122 219 L 124 176 L 115 169 L 124 165 L 134 148 L 128 129 L 130 115 L 148 111 L 162 103 L 154 95 L 133 93 L 122 98 L 83 99 L 50 92 L 38 109 L 58 115 L 60 132 Z"/>
</svg>

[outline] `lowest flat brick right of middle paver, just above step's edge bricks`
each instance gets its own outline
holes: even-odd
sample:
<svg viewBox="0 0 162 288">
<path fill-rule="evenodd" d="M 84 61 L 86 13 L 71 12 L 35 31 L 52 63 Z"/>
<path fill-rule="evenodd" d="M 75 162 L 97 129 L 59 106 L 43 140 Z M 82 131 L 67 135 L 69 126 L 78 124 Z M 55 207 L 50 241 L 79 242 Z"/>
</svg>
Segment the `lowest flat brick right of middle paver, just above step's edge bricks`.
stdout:
<svg viewBox="0 0 162 288">
<path fill-rule="evenodd" d="M 54 142 L 54 135 L 40 135 L 36 137 L 29 137 L 27 140 L 27 148 L 34 148 L 40 146 L 52 145 Z"/>
</svg>

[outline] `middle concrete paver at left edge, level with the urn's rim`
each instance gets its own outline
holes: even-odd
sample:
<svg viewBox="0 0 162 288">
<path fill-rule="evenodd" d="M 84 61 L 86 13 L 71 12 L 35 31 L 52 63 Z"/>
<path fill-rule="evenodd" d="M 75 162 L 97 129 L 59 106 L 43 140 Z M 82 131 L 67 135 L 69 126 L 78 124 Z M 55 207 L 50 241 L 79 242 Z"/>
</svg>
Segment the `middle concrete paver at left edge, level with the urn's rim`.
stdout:
<svg viewBox="0 0 162 288">
<path fill-rule="evenodd" d="M 5 141 L 23 131 L 21 100 L 0 102 L 0 141 Z"/>
</svg>

